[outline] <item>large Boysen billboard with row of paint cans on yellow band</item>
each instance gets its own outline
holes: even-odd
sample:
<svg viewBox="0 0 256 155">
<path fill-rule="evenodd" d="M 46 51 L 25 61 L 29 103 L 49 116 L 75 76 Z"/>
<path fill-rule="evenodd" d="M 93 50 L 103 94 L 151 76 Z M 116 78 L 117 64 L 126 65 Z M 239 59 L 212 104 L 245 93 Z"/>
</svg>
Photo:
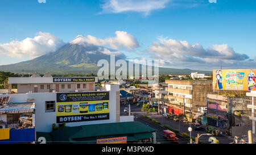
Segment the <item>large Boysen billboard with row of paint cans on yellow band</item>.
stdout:
<svg viewBox="0 0 256 155">
<path fill-rule="evenodd" d="M 57 93 L 57 123 L 109 119 L 109 91 Z"/>
</svg>

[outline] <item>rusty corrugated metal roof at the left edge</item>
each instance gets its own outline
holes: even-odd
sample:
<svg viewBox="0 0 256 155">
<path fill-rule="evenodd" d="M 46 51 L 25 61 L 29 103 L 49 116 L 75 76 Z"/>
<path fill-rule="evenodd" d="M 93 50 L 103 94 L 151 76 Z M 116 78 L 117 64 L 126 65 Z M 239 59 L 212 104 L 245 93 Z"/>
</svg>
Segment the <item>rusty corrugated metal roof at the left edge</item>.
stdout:
<svg viewBox="0 0 256 155">
<path fill-rule="evenodd" d="M 24 112 L 33 112 L 35 103 L 10 103 L 7 106 L 0 107 L 0 114 L 17 114 Z"/>
</svg>

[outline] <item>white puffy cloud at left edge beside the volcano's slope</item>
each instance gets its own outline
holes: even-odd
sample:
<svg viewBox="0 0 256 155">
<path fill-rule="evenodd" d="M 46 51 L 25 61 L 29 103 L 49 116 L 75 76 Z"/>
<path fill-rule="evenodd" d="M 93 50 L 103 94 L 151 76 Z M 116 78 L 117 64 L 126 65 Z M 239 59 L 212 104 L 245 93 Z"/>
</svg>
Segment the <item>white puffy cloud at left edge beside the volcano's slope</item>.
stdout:
<svg viewBox="0 0 256 155">
<path fill-rule="evenodd" d="M 10 41 L 0 44 L 0 53 L 11 57 L 38 57 L 64 45 L 63 40 L 47 32 L 38 32 L 34 38 L 27 37 L 22 41 Z"/>
</svg>

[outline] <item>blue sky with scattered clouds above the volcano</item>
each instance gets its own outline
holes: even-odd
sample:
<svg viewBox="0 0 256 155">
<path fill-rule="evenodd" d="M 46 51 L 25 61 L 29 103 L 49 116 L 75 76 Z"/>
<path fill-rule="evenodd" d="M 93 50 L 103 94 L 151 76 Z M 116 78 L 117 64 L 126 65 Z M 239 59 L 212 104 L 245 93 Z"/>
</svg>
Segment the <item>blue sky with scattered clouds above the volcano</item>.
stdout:
<svg viewBox="0 0 256 155">
<path fill-rule="evenodd" d="M 130 45 L 120 43 L 122 48 L 116 49 L 127 58 L 159 58 L 166 67 L 207 70 L 220 65 L 243 69 L 256 64 L 253 0 L 2 0 L 0 65 L 52 52 L 77 35 L 107 39 L 115 37 L 116 31 L 129 33 L 139 43 L 132 50 L 127 50 Z M 20 41 L 34 39 L 39 32 L 56 36 L 63 43 L 40 52 L 33 48 L 35 55 L 28 50 L 15 51 L 17 46 L 18 50 L 23 49 Z M 195 44 L 200 47 L 194 48 Z"/>
</svg>

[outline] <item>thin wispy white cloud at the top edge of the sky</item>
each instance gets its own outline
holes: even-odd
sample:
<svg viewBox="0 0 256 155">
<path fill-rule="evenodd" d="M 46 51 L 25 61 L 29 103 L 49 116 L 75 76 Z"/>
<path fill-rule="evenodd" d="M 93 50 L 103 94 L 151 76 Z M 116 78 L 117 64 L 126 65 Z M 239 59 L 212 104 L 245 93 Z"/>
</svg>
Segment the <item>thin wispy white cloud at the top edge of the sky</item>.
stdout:
<svg viewBox="0 0 256 155">
<path fill-rule="evenodd" d="M 101 7 L 103 12 L 143 12 L 150 14 L 152 10 L 164 9 L 171 0 L 108 0 Z"/>
</svg>

